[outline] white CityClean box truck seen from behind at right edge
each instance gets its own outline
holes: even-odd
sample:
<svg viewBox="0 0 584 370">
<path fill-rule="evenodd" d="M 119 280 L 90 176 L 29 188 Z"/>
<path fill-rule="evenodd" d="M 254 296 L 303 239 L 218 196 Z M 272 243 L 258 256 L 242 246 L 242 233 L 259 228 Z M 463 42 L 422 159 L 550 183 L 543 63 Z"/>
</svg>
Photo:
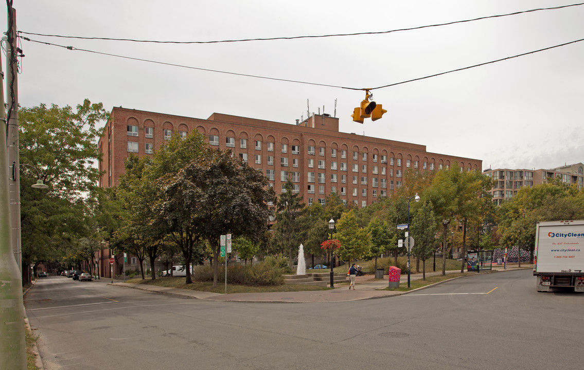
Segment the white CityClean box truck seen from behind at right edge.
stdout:
<svg viewBox="0 0 584 370">
<path fill-rule="evenodd" d="M 584 220 L 538 222 L 534 254 L 538 292 L 551 288 L 584 292 Z"/>
</svg>

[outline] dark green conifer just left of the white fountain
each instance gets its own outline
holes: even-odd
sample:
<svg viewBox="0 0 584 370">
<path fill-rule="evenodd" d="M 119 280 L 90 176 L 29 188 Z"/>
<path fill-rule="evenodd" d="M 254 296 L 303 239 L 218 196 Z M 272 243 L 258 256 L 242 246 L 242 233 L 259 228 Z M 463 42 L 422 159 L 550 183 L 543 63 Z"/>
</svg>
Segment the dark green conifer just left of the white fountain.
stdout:
<svg viewBox="0 0 584 370">
<path fill-rule="evenodd" d="M 288 262 L 292 267 L 293 251 L 300 246 L 304 228 L 300 217 L 304 211 L 304 203 L 300 194 L 294 193 L 294 184 L 288 178 L 284 184 L 284 193 L 280 194 L 276 204 L 276 225 L 274 225 L 274 242 L 284 252 L 288 252 Z"/>
</svg>

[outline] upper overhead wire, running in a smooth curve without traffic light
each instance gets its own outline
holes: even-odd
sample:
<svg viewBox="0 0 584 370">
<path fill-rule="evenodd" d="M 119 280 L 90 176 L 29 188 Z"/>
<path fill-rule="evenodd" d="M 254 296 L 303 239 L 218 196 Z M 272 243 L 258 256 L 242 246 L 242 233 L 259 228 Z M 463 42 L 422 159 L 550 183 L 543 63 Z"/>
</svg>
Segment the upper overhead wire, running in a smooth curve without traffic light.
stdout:
<svg viewBox="0 0 584 370">
<path fill-rule="evenodd" d="M 340 36 L 359 36 L 359 35 L 369 35 L 369 34 L 386 34 L 386 33 L 392 33 L 392 32 L 400 32 L 400 31 L 419 30 L 419 29 L 424 29 L 424 28 L 428 28 L 428 27 L 439 27 L 439 26 L 455 25 L 456 23 L 474 22 L 475 20 L 482 20 L 482 19 L 489 19 L 489 18 L 500 18 L 500 17 L 511 16 L 511 15 L 518 15 L 518 14 L 522 14 L 522 13 L 531 13 L 531 12 L 538 12 L 538 11 L 550 11 L 550 10 L 569 8 L 571 6 L 579 6 L 579 5 L 584 5 L 584 3 L 571 4 L 571 5 L 561 5 L 561 6 L 553 6 L 552 8 L 530 9 L 529 11 L 519 11 L 519 12 L 506 13 L 506 14 L 500 14 L 500 15 L 484 16 L 484 17 L 473 18 L 473 19 L 456 20 L 456 21 L 447 22 L 447 23 L 438 23 L 436 25 L 418 26 L 418 27 L 402 28 L 402 29 L 389 30 L 389 31 L 380 31 L 380 32 L 338 33 L 338 34 L 324 34 L 324 35 L 319 35 L 319 36 L 267 37 L 265 39 L 241 39 L 241 40 L 221 40 L 221 41 L 157 41 L 157 40 L 116 39 L 116 38 L 113 38 L 113 37 L 63 36 L 63 35 L 58 35 L 58 34 L 44 34 L 44 33 L 33 33 L 33 32 L 24 32 L 24 31 L 18 31 L 18 33 L 35 35 L 35 36 L 61 37 L 61 38 L 64 38 L 64 39 L 108 40 L 108 41 L 133 41 L 135 43 L 158 43 L 158 44 L 218 44 L 218 43 L 239 43 L 239 42 L 244 42 L 244 41 L 317 39 L 317 38 L 321 38 L 321 37 L 340 37 Z"/>
</svg>

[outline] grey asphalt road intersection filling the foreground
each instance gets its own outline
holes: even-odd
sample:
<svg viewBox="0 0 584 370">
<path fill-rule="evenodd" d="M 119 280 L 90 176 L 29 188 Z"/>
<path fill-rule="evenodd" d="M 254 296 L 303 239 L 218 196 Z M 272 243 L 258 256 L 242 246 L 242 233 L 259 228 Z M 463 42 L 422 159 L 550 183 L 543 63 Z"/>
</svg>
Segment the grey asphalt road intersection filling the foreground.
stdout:
<svg viewBox="0 0 584 370">
<path fill-rule="evenodd" d="M 530 270 L 335 303 L 181 299 L 65 277 L 25 298 L 47 370 L 581 368 L 583 294 Z"/>
</svg>

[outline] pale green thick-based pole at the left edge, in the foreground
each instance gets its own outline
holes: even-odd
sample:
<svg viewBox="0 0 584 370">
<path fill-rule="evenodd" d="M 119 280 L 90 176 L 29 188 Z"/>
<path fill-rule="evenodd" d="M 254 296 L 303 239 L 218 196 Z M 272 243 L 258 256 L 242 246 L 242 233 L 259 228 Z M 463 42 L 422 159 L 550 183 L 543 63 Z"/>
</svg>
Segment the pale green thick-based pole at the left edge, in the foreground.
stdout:
<svg viewBox="0 0 584 370">
<path fill-rule="evenodd" d="M 14 10 L 12 17 L 14 17 Z M 10 21 L 9 21 L 10 23 Z M 0 61 L 0 71 L 2 62 Z M 2 75 L 4 78 L 4 75 Z M 0 106 L 4 107 L 4 90 L 0 88 Z M 17 130 L 18 131 L 18 130 Z M 13 253 L 11 201 L 9 197 L 9 163 L 6 148 L 6 117 L 0 109 L 0 359 L 2 368 L 26 370 L 25 318 L 22 301 L 22 274 Z M 18 215 L 20 222 L 20 214 Z"/>
</svg>

